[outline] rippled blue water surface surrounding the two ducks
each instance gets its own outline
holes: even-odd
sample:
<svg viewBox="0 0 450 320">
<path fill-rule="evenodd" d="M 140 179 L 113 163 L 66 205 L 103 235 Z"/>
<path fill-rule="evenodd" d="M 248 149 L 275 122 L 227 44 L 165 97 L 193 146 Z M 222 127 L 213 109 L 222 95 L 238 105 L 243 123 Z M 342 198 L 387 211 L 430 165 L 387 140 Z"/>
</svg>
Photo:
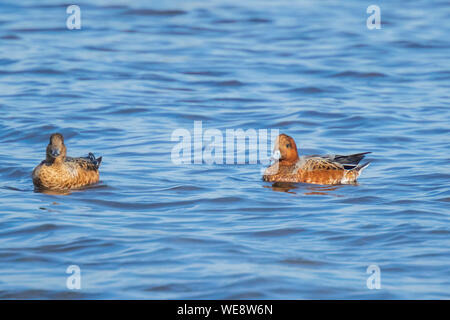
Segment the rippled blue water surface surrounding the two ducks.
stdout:
<svg viewBox="0 0 450 320">
<path fill-rule="evenodd" d="M 0 298 L 450 298 L 447 1 L 75 4 L 81 30 L 65 1 L 0 3 Z M 175 165 L 196 120 L 372 163 L 335 187 Z M 53 132 L 99 185 L 34 192 Z"/>
</svg>

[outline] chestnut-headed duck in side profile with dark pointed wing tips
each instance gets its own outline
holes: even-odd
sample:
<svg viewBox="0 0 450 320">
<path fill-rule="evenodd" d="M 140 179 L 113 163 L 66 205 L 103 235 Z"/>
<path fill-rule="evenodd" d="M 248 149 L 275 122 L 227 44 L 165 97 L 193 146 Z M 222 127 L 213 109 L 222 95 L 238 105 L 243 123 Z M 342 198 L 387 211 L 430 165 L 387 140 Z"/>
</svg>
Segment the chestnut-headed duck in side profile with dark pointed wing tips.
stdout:
<svg viewBox="0 0 450 320">
<path fill-rule="evenodd" d="M 303 182 L 314 184 L 351 184 L 370 162 L 358 165 L 364 155 L 370 152 L 348 156 L 298 156 L 294 139 L 280 134 L 276 141 L 272 158 L 275 162 L 263 175 L 268 182 Z"/>
</svg>

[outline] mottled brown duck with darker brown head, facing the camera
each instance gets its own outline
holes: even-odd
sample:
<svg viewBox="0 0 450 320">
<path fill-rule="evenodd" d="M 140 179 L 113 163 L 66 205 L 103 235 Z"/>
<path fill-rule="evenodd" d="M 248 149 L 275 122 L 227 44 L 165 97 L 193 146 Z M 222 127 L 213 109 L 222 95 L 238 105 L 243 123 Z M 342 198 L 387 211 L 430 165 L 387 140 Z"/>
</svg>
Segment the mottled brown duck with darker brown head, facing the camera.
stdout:
<svg viewBox="0 0 450 320">
<path fill-rule="evenodd" d="M 98 182 L 98 168 L 102 157 L 71 158 L 66 156 L 64 137 L 60 133 L 50 136 L 46 158 L 33 170 L 33 184 L 36 188 L 50 190 L 78 189 Z"/>
</svg>

